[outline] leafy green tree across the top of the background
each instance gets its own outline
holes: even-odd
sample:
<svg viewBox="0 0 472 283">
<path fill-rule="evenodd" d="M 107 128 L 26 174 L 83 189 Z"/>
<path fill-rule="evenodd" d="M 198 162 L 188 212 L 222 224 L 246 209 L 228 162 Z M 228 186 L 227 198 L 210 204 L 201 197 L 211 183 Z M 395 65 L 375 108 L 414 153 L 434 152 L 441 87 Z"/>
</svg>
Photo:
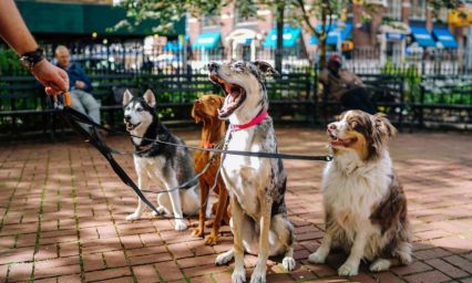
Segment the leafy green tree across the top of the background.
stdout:
<svg viewBox="0 0 472 283">
<path fill-rule="evenodd" d="M 400 0 L 398 0 L 400 1 Z M 326 41 L 328 32 L 335 19 L 339 19 L 347 12 L 347 7 L 352 3 L 365 7 L 370 12 L 377 12 L 381 6 L 379 0 L 123 0 L 120 6 L 125 8 L 127 15 L 135 18 L 134 24 L 140 24 L 145 19 L 158 19 L 161 24 L 154 29 L 155 32 L 171 31 L 173 22 L 188 13 L 192 18 L 202 14 L 220 14 L 220 8 L 234 3 L 242 17 L 257 17 L 257 10 L 276 11 L 277 18 L 277 52 L 276 67 L 281 69 L 281 46 L 284 23 L 293 27 L 302 27 L 319 41 L 320 67 L 326 64 Z M 433 17 L 441 8 L 455 9 L 456 0 L 429 0 L 433 8 Z M 257 7 L 258 9 L 254 9 Z M 315 27 L 312 20 L 320 20 L 320 28 Z M 120 22 L 115 29 L 132 24 L 127 20 Z"/>
</svg>

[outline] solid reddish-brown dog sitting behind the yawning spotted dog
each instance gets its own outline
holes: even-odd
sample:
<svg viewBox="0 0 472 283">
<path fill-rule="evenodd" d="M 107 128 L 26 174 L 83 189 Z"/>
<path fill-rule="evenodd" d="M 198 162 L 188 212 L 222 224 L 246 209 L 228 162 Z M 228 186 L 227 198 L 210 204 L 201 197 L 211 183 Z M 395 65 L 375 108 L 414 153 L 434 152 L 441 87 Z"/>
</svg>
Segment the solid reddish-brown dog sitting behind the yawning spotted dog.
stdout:
<svg viewBox="0 0 472 283">
<path fill-rule="evenodd" d="M 205 95 L 194 102 L 194 108 L 192 111 L 192 117 L 198 124 L 203 120 L 202 140 L 199 147 L 213 148 L 224 136 L 226 125 L 224 120 L 218 118 L 218 109 L 223 106 L 225 98 L 217 95 Z M 197 150 L 194 154 L 194 167 L 196 172 L 201 172 L 208 160 L 212 158 L 213 153 Z M 220 155 L 215 157 L 213 165 L 209 166 L 208 170 L 202 175 L 199 179 L 199 196 L 201 205 L 205 202 L 208 197 L 209 190 L 215 184 L 216 171 L 219 168 Z M 212 227 L 212 233 L 206 239 L 205 244 L 214 245 L 218 240 L 219 228 L 222 220 L 226 224 L 229 224 L 229 216 L 227 212 L 227 206 L 229 203 L 228 191 L 226 190 L 225 184 L 222 179 L 222 175 L 218 176 L 218 181 L 214 190 L 218 195 L 218 202 L 212 208 L 212 212 L 215 214 L 214 221 L 208 221 L 206 227 Z M 198 227 L 194 229 L 192 234 L 194 237 L 204 237 L 204 222 L 206 220 L 206 205 L 199 210 L 199 222 Z"/>
</svg>

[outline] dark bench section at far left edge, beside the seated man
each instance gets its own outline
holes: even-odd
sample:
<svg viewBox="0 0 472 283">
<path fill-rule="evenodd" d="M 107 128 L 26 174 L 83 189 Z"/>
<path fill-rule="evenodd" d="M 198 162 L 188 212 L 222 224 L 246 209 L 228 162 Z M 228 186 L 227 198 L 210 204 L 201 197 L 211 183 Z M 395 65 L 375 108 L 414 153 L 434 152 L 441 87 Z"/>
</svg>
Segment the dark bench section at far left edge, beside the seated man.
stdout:
<svg viewBox="0 0 472 283">
<path fill-rule="evenodd" d="M 34 76 L 0 77 L 0 126 L 4 133 L 42 128 L 45 134 L 54 109 Z M 51 138 L 54 140 L 51 128 Z"/>
</svg>

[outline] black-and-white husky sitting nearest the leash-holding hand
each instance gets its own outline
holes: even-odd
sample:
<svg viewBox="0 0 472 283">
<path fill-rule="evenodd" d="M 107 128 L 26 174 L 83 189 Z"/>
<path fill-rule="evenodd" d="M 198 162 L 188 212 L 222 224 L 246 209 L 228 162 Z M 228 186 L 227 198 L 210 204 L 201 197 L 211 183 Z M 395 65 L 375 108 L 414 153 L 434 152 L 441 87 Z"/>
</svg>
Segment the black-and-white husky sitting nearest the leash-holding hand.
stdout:
<svg viewBox="0 0 472 283">
<path fill-rule="evenodd" d="M 170 190 L 195 177 L 195 169 L 192 166 L 193 158 L 188 149 L 151 142 L 162 140 L 184 144 L 161 123 L 154 109 L 156 101 L 151 90 L 147 90 L 143 97 L 133 97 L 127 90 L 123 95 L 126 130 L 136 136 L 131 138 L 135 150 L 143 150 L 143 153 L 134 154 L 137 186 L 141 190 L 147 190 L 150 181 L 157 182 L 158 180 Z M 182 218 L 183 213 L 189 214 L 194 212 L 199 207 L 198 180 L 196 179 L 186 188 L 157 195 L 157 205 L 158 212 L 173 213 L 176 218 Z M 144 209 L 145 205 L 138 199 L 136 211 L 127 216 L 126 220 L 138 219 Z M 153 211 L 153 216 L 155 214 Z M 184 220 L 175 220 L 175 230 L 183 231 L 186 229 L 187 226 Z"/>
</svg>

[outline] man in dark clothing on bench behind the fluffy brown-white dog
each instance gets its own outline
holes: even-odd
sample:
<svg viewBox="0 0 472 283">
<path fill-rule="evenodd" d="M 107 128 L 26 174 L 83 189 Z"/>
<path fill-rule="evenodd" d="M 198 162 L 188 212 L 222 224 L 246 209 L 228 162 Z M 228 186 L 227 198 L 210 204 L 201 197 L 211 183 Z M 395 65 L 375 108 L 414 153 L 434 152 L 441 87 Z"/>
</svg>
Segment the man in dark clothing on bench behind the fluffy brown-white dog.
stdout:
<svg viewBox="0 0 472 283">
<path fill-rule="evenodd" d="M 319 81 L 347 108 L 376 114 L 377 108 L 370 101 L 366 85 L 355 73 L 340 70 L 341 64 L 340 55 L 331 55 L 328 61 L 328 67 L 319 73 Z"/>
</svg>

